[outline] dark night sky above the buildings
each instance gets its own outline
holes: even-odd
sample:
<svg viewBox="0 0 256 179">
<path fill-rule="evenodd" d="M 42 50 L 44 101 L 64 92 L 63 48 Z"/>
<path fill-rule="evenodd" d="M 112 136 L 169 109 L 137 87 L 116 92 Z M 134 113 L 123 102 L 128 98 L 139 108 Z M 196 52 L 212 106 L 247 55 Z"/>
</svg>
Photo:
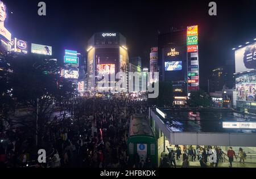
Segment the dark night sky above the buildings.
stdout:
<svg viewBox="0 0 256 179">
<path fill-rule="evenodd" d="M 3 2 L 8 11 L 6 27 L 13 36 L 51 45 L 53 55 L 61 60 L 64 49 L 83 52 L 95 32 L 120 32 L 127 39 L 129 56 L 141 56 L 143 67 L 148 67 L 150 48 L 157 45 L 158 31 L 198 24 L 203 88 L 210 70 L 234 60 L 233 47 L 256 38 L 256 1 L 215 1 L 217 16 L 208 15 L 210 1 L 195 0 L 44 0 L 47 16 L 38 16 L 38 0 Z"/>
</svg>

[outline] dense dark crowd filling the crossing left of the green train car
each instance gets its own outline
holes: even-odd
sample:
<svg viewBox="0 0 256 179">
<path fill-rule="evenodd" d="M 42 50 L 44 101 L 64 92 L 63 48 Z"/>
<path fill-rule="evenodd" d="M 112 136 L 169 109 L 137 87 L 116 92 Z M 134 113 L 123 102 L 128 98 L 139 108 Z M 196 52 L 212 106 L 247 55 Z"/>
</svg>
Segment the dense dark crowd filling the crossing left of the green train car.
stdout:
<svg viewBox="0 0 256 179">
<path fill-rule="evenodd" d="M 47 147 L 47 164 L 35 162 L 35 167 L 134 166 L 127 154 L 129 123 L 135 113 L 147 117 L 146 101 L 81 98 L 75 104 L 67 103 L 66 108 L 63 117 L 53 118 L 56 122 L 42 137 L 42 144 Z M 28 161 L 37 159 L 34 138 L 26 133 L 26 128 L 1 135 L 5 139 L 0 146 L 1 167 L 30 167 Z"/>
</svg>

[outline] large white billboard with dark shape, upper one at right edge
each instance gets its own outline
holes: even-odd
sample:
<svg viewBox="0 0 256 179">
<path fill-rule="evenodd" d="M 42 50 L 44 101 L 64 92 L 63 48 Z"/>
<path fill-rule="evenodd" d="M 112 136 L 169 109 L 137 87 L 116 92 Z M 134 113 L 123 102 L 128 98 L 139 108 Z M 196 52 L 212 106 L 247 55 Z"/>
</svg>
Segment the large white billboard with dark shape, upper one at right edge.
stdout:
<svg viewBox="0 0 256 179">
<path fill-rule="evenodd" d="M 236 73 L 256 69 L 256 42 L 235 52 Z"/>
</svg>

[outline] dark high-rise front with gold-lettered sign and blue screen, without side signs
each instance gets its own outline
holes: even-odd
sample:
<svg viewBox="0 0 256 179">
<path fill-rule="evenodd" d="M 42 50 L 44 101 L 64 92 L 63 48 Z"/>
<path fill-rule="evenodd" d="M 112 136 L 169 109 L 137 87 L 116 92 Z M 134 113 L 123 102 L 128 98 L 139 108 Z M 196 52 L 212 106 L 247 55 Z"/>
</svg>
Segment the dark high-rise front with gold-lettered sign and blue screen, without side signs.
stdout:
<svg viewBox="0 0 256 179">
<path fill-rule="evenodd" d="M 172 82 L 174 104 L 187 99 L 187 44 L 185 29 L 160 33 L 158 36 L 159 80 Z"/>
</svg>

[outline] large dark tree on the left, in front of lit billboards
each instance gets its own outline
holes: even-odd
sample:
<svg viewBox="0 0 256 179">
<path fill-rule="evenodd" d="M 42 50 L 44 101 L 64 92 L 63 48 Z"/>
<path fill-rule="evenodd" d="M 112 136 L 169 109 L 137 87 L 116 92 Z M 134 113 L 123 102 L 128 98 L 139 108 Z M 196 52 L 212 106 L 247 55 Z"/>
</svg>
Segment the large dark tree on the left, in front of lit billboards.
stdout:
<svg viewBox="0 0 256 179">
<path fill-rule="evenodd" d="M 57 62 L 45 56 L 21 54 L 9 55 L 6 59 L 12 71 L 9 73 L 9 83 L 16 108 L 27 108 L 26 115 L 20 115 L 15 120 L 9 118 L 9 122 L 26 126 L 38 135 L 40 146 L 44 133 L 53 121 L 50 117 L 56 106 L 75 96 L 75 88 L 72 83 L 60 77 Z"/>
</svg>

